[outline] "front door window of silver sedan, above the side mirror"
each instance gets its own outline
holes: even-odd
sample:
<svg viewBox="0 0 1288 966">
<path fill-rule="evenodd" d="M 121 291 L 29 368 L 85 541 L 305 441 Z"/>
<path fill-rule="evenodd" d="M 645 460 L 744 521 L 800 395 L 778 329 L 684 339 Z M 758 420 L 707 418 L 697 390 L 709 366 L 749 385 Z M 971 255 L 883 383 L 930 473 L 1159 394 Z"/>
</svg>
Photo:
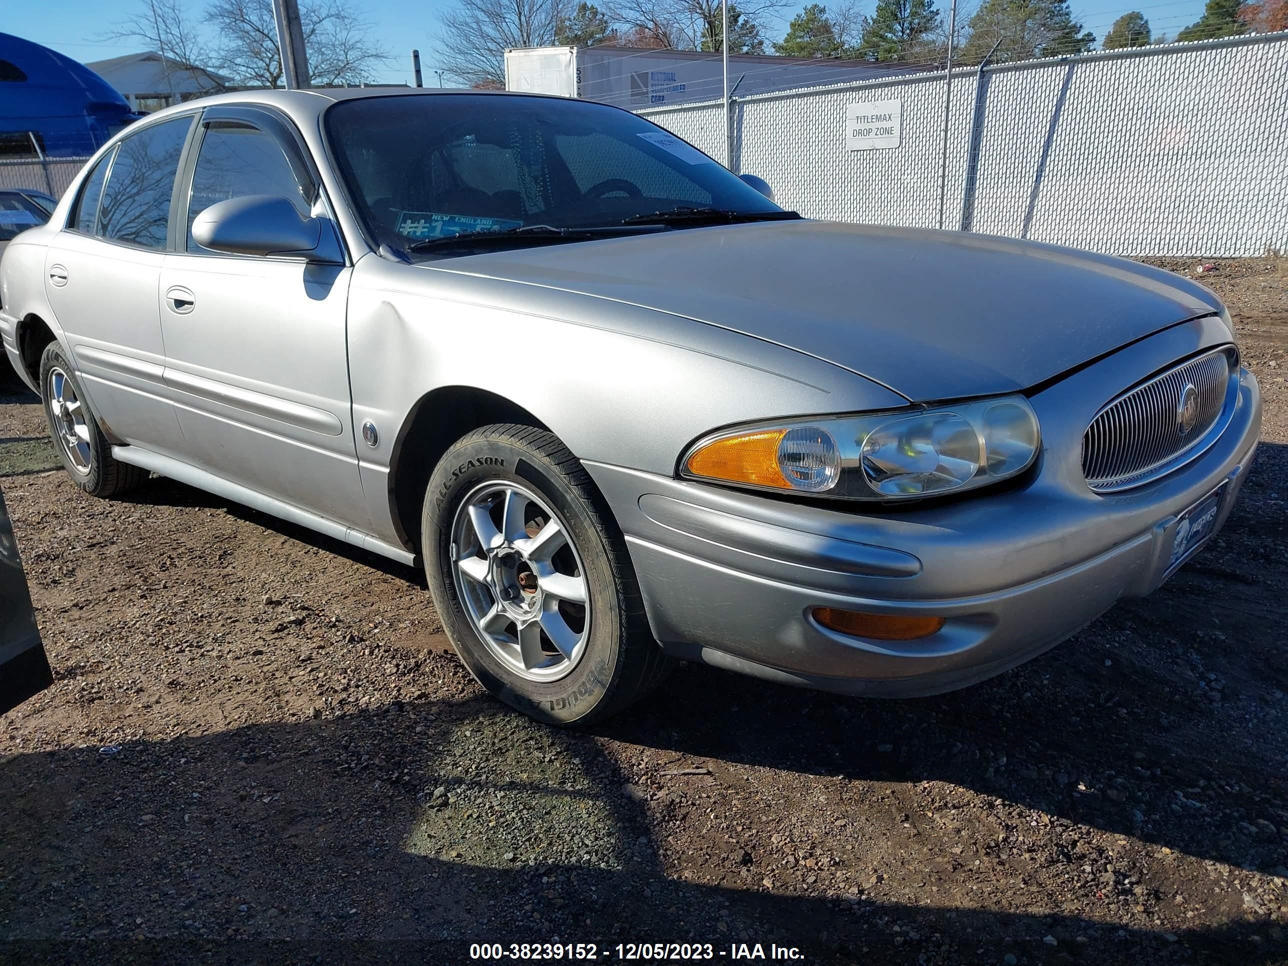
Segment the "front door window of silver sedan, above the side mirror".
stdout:
<svg viewBox="0 0 1288 966">
<path fill-rule="evenodd" d="M 296 167 L 270 134 L 243 121 L 213 121 L 201 139 L 192 175 L 188 251 L 209 251 L 192 238 L 192 223 L 197 215 L 220 201 L 246 194 L 287 198 L 300 218 L 308 218 L 314 192 L 312 184 L 301 184 Z"/>
</svg>

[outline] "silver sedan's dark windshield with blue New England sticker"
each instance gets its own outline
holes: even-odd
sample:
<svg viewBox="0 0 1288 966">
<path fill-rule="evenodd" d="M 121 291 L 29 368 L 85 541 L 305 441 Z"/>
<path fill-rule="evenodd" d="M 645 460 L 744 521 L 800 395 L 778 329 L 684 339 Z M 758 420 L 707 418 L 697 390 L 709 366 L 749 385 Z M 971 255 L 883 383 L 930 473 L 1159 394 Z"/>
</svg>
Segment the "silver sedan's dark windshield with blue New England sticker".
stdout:
<svg viewBox="0 0 1288 966">
<path fill-rule="evenodd" d="M 326 130 L 359 215 L 377 242 L 403 252 L 426 238 L 600 228 L 674 209 L 779 211 L 668 131 L 585 100 L 344 100 L 326 112 Z"/>
</svg>

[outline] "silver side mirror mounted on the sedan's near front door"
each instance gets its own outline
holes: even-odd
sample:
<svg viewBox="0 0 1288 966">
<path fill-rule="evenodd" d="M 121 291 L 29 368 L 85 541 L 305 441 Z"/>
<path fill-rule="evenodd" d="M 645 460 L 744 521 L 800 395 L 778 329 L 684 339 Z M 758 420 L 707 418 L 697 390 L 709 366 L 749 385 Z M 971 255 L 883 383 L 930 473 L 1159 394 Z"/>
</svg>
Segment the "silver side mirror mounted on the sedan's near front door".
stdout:
<svg viewBox="0 0 1288 966">
<path fill-rule="evenodd" d="M 193 240 L 232 255 L 301 255 L 309 261 L 344 263 L 327 219 L 300 218 L 287 198 L 245 194 L 211 205 L 192 223 Z"/>
</svg>

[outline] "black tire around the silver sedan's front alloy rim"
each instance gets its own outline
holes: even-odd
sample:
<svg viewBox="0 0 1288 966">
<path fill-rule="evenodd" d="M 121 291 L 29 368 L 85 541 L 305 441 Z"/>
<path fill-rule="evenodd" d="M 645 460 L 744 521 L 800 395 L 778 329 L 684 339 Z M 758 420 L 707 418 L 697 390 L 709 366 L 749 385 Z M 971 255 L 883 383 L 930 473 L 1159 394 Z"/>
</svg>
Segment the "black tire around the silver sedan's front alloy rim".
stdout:
<svg viewBox="0 0 1288 966">
<path fill-rule="evenodd" d="M 515 674 L 483 643 L 460 599 L 453 520 L 466 496 L 493 482 L 518 483 L 547 501 L 581 558 L 594 617 L 582 657 L 559 680 Z M 430 477 L 421 533 L 425 576 L 456 653 L 479 684 L 526 715 L 565 726 L 599 721 L 648 694 L 675 666 L 649 631 L 616 520 L 581 462 L 551 433 L 492 425 L 457 440 Z"/>
</svg>

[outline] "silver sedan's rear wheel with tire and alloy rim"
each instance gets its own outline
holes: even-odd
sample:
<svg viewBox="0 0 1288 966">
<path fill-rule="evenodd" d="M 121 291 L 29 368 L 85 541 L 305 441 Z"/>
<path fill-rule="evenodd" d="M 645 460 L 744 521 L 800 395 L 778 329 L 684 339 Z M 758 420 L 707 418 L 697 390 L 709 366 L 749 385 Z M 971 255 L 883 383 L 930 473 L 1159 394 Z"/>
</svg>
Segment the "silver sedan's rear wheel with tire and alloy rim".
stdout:
<svg viewBox="0 0 1288 966">
<path fill-rule="evenodd" d="M 112 446 L 58 343 L 46 345 L 40 357 L 40 395 L 54 448 L 77 487 L 90 496 L 112 497 L 148 478 L 147 470 L 112 457 Z"/>
</svg>

